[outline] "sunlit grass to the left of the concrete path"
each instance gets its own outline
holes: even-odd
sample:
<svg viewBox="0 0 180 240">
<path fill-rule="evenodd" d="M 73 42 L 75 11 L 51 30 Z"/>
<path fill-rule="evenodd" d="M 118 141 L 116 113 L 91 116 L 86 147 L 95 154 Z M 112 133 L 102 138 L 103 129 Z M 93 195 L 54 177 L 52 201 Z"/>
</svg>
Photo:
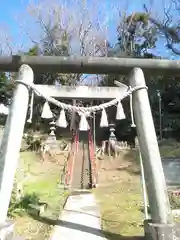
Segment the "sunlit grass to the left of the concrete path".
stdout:
<svg viewBox="0 0 180 240">
<path fill-rule="evenodd" d="M 23 194 L 38 197 L 48 204 L 45 217 L 56 220 L 67 197 L 60 187 L 61 169 L 57 164 L 46 162 L 42 164 L 34 152 L 21 153 L 16 181 L 23 181 Z M 15 232 L 27 240 L 48 239 L 52 226 L 36 220 L 25 212 L 22 216 L 15 216 Z"/>
</svg>

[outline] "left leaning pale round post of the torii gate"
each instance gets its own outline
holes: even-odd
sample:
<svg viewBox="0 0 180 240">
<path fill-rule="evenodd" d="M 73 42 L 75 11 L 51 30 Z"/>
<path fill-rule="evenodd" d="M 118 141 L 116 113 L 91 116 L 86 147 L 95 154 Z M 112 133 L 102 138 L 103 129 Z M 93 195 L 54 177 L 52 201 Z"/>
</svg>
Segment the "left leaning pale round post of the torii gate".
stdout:
<svg viewBox="0 0 180 240">
<path fill-rule="evenodd" d="M 33 71 L 28 65 L 20 67 L 18 80 L 27 83 L 33 82 Z M 7 217 L 26 121 L 28 101 L 28 88 L 23 84 L 18 84 L 14 92 L 13 103 L 0 146 L 0 223 L 5 222 Z"/>
</svg>

